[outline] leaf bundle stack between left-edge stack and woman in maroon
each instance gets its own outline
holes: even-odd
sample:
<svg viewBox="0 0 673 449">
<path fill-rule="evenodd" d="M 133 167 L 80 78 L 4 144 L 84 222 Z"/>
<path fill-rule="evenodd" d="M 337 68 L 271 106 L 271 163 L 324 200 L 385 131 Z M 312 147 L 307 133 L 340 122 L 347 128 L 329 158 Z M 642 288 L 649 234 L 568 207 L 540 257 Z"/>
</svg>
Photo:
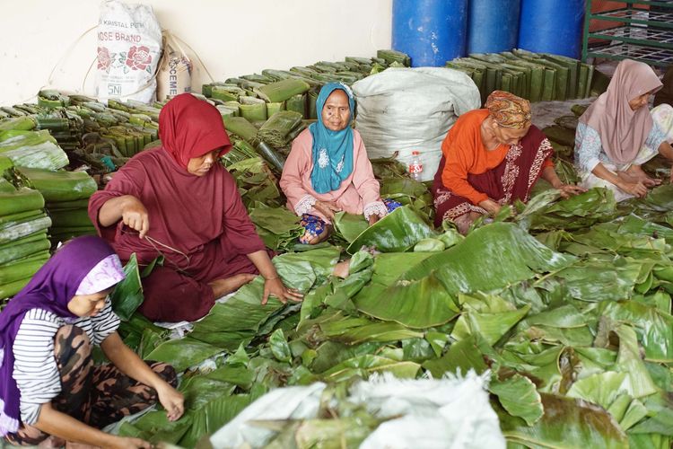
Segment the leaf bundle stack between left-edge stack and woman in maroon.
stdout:
<svg viewBox="0 0 673 449">
<path fill-rule="evenodd" d="M 20 168 L 17 170 L 22 185 L 39 190 L 52 225 L 51 242 L 96 233 L 87 212 L 89 198 L 98 185 L 86 172 L 48 171 Z"/>
</svg>

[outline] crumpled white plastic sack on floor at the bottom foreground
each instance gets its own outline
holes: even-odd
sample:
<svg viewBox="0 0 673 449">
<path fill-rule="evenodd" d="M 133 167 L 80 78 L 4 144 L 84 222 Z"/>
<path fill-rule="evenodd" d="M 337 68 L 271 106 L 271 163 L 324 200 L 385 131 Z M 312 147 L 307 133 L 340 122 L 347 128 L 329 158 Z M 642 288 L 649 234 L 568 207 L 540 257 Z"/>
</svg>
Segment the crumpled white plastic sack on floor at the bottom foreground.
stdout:
<svg viewBox="0 0 673 449">
<path fill-rule="evenodd" d="M 275 420 L 289 427 L 293 421 L 317 418 L 326 387 L 314 383 L 269 392 L 215 432 L 210 443 L 215 449 L 264 447 L 278 432 L 260 427 L 260 421 Z M 336 399 L 332 397 L 331 401 Z M 383 421 L 364 438 L 360 445 L 364 449 L 505 447 L 485 391 L 485 377 L 474 373 L 465 378 L 411 381 L 398 380 L 391 374 L 373 375 L 369 381 L 355 384 L 345 401 L 351 408 L 361 406 Z M 335 408 L 337 404 L 329 406 Z M 285 419 L 289 421 L 283 423 Z"/>
</svg>

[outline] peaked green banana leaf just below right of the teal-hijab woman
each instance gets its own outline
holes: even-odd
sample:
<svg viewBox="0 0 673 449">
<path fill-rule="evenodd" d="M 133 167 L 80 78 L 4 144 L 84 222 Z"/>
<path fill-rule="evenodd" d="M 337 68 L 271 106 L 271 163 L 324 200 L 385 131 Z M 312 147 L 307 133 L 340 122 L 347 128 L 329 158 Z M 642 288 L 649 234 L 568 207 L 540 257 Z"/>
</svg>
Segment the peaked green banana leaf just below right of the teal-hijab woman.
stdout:
<svg viewBox="0 0 673 449">
<path fill-rule="evenodd" d="M 398 207 L 365 229 L 346 251 L 354 254 L 363 246 L 372 246 L 381 252 L 407 251 L 417 242 L 433 235 L 433 229 L 413 210 L 406 206 Z"/>
</svg>

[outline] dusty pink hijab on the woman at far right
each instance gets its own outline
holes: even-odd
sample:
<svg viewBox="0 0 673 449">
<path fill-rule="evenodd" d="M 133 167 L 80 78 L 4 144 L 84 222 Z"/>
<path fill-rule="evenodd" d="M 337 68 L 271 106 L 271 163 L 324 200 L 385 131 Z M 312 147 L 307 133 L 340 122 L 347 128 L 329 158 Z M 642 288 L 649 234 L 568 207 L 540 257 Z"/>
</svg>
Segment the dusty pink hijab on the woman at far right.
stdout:
<svg viewBox="0 0 673 449">
<path fill-rule="evenodd" d="M 650 110 L 632 110 L 629 101 L 661 88 L 650 66 L 624 59 L 615 70 L 607 91 L 582 114 L 580 121 L 594 128 L 607 156 L 617 165 L 632 163 L 654 126 Z"/>
</svg>

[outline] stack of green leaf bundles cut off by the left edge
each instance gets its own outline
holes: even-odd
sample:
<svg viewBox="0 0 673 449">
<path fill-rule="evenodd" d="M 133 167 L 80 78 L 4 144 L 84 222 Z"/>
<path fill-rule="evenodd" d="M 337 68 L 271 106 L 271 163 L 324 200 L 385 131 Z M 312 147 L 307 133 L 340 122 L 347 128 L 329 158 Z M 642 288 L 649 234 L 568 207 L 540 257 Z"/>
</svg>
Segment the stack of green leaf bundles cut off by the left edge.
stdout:
<svg viewBox="0 0 673 449">
<path fill-rule="evenodd" d="M 0 300 L 19 292 L 48 260 L 50 224 L 38 190 L 16 189 L 0 176 Z"/>
</svg>

